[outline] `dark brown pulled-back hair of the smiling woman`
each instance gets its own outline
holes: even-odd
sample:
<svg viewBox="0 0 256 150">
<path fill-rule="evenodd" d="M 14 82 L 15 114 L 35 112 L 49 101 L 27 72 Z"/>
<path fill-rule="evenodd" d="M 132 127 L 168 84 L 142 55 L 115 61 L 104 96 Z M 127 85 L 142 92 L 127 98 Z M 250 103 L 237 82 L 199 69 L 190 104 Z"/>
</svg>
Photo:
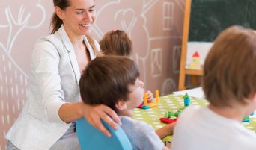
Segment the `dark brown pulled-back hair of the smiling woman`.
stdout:
<svg viewBox="0 0 256 150">
<path fill-rule="evenodd" d="M 67 7 L 70 6 L 70 1 L 68 0 L 53 0 L 53 5 L 58 6 L 61 8 L 61 10 L 65 10 Z M 52 28 L 51 34 L 54 34 L 55 31 L 58 31 L 58 28 L 61 28 L 62 20 L 57 16 L 57 14 L 54 12 L 52 14 L 52 20 L 50 27 Z"/>
</svg>

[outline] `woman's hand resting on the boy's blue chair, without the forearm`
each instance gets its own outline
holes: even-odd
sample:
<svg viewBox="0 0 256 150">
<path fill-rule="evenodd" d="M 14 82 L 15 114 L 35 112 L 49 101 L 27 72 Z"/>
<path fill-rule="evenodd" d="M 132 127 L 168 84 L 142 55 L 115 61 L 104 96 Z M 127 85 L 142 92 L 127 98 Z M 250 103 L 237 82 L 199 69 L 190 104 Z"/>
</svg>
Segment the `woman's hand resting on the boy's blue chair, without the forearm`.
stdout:
<svg viewBox="0 0 256 150">
<path fill-rule="evenodd" d="M 115 111 L 112 110 L 111 108 L 103 104 L 95 105 L 95 106 L 91 106 L 88 104 L 82 104 L 82 105 L 83 105 L 82 114 L 85 117 L 85 119 L 95 128 L 102 131 L 103 134 L 106 134 L 107 137 L 111 137 L 111 134 L 104 127 L 102 122 L 100 122 L 100 119 L 103 119 L 107 124 L 109 124 L 115 130 L 118 129 L 118 126 L 115 125 L 115 122 L 121 125 L 121 121 L 117 113 L 115 113 Z"/>
</svg>

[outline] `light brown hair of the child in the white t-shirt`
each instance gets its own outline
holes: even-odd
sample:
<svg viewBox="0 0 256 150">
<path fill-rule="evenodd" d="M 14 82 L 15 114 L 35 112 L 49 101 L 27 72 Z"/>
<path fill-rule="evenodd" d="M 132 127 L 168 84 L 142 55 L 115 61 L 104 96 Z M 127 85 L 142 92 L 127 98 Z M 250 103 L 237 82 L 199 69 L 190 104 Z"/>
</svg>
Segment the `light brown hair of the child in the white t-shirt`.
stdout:
<svg viewBox="0 0 256 150">
<path fill-rule="evenodd" d="M 204 63 L 203 89 L 215 107 L 232 107 L 233 101 L 256 92 L 256 31 L 232 26 L 216 38 Z"/>
</svg>

